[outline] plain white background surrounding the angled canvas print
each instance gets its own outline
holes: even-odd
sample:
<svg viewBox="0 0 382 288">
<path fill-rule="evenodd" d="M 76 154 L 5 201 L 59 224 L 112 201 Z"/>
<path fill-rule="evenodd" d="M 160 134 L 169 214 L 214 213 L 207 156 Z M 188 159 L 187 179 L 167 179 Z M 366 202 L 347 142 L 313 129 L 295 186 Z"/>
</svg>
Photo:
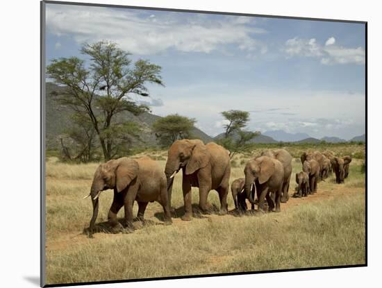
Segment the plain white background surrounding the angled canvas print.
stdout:
<svg viewBox="0 0 382 288">
<path fill-rule="evenodd" d="M 382 23 L 377 1 L 83 1 L 129 6 L 244 12 L 263 15 L 351 19 L 368 22 L 368 178 L 369 266 L 248 276 L 224 276 L 113 284 L 113 287 L 194 287 L 283 285 L 283 287 L 363 287 L 380 283 L 381 186 L 377 174 L 382 143 L 379 131 L 379 64 Z M 37 287 L 40 251 L 40 3 L 5 1 L 1 7 L 1 285 Z M 374 84 L 374 85 L 372 85 Z M 375 126 L 371 132 L 372 126 Z M 372 181 L 373 180 L 373 181 Z M 374 229 L 373 229 L 374 228 Z M 7 285 L 8 284 L 8 285 Z M 83 286 L 84 287 L 84 286 Z M 94 287 L 94 286 L 93 286 Z M 112 287 L 99 285 L 96 287 Z"/>
</svg>

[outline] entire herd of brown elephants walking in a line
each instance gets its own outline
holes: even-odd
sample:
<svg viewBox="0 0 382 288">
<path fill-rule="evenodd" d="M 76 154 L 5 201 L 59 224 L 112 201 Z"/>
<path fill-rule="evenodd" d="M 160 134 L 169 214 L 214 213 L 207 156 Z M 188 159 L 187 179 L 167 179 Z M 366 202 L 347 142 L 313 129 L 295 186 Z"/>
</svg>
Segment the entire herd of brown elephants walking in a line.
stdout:
<svg viewBox="0 0 382 288">
<path fill-rule="evenodd" d="M 335 157 L 332 152 L 303 153 L 302 171 L 296 173 L 298 184 L 294 196 L 307 196 L 317 192 L 317 182 L 335 173 L 336 183 L 343 183 L 349 174 L 351 156 Z M 99 210 L 99 195 L 103 190 L 113 189 L 113 203 L 108 212 L 112 232 L 133 232 L 133 203 L 138 203 L 138 219 L 144 221 L 144 211 L 149 202 L 157 201 L 165 214 L 165 225 L 172 223 L 172 186 L 178 171 L 183 171 L 182 190 L 185 213 L 182 220 L 192 219 L 191 187 L 199 187 L 199 207 L 203 212 L 211 210 L 208 192 L 215 189 L 219 194 L 219 214 L 228 212 L 227 196 L 231 175 L 229 152 L 224 147 L 199 139 L 181 139 L 170 146 L 165 171 L 151 158 L 119 158 L 100 164 L 94 173 L 90 194 L 93 205 L 89 236 L 92 237 Z M 288 201 L 292 156 L 285 149 L 266 150 L 249 160 L 244 167 L 244 178 L 231 184 L 231 192 L 238 212 L 247 210 L 246 199 L 256 213 L 265 210 L 280 212 L 280 203 Z M 257 199 L 255 197 L 257 196 Z M 256 202 L 255 202 L 256 199 Z M 124 225 L 117 220 L 117 213 L 124 207 Z"/>
</svg>

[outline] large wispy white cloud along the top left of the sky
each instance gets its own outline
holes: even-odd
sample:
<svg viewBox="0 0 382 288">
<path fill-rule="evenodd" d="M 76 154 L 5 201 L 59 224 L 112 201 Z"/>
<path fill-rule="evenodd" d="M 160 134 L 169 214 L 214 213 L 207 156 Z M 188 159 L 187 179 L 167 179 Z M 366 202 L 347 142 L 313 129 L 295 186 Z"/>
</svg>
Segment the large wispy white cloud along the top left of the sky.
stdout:
<svg viewBox="0 0 382 288">
<path fill-rule="evenodd" d="M 211 21 L 206 15 L 142 14 L 132 10 L 99 7 L 47 6 L 47 30 L 55 35 L 73 35 L 79 44 L 110 40 L 134 54 L 149 55 L 167 49 L 210 53 L 224 45 L 243 51 L 265 53 L 264 44 L 253 39 L 265 33 L 249 26 L 251 17 L 226 17 Z M 156 21 L 153 23 L 153 21 Z"/>
</svg>

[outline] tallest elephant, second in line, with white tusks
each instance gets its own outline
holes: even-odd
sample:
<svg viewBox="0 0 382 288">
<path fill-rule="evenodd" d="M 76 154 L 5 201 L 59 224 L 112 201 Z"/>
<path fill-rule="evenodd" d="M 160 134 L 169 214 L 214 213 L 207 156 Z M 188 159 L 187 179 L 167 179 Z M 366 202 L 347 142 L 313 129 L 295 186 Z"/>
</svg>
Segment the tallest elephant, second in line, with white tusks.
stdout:
<svg viewBox="0 0 382 288">
<path fill-rule="evenodd" d="M 229 152 L 224 147 L 214 142 L 205 145 L 199 139 L 176 140 L 169 147 L 165 166 L 169 205 L 171 205 L 174 176 L 181 169 L 185 205 L 182 220 L 190 221 L 192 219 L 191 187 L 199 187 L 199 207 L 202 211 L 210 210 L 211 205 L 207 202 L 208 192 L 215 189 L 220 200 L 219 214 L 227 213 L 231 162 Z"/>
</svg>

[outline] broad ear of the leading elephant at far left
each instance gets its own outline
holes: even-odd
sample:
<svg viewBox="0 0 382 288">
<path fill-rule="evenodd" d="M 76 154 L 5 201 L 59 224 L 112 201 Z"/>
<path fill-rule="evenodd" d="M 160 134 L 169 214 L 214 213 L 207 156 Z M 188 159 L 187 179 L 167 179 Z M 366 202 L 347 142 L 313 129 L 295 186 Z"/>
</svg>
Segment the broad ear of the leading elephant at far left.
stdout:
<svg viewBox="0 0 382 288">
<path fill-rule="evenodd" d="M 115 170 L 117 192 L 124 190 L 138 176 L 139 166 L 133 159 L 124 158 Z"/>
</svg>

